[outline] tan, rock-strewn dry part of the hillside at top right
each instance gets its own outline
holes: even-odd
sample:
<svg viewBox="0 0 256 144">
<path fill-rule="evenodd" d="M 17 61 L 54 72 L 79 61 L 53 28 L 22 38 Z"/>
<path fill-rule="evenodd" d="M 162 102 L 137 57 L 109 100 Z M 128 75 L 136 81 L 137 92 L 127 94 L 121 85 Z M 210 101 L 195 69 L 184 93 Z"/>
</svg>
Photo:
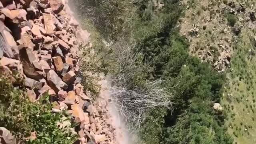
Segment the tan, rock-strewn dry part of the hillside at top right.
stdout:
<svg viewBox="0 0 256 144">
<path fill-rule="evenodd" d="M 183 0 L 185 16 L 180 33 L 190 42 L 190 53 L 208 61 L 218 72 L 230 67 L 241 30 L 255 27 L 254 6 L 232 0 Z M 234 24 L 230 24 L 234 22 Z"/>
</svg>

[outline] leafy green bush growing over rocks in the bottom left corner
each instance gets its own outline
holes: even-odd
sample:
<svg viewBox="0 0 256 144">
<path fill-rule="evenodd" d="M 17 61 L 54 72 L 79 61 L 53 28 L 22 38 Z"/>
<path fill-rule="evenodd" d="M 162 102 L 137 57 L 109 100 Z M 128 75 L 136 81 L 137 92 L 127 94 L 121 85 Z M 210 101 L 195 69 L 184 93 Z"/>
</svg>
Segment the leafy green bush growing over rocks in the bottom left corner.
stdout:
<svg viewBox="0 0 256 144">
<path fill-rule="evenodd" d="M 75 124 L 66 114 L 52 113 L 49 97 L 32 103 L 22 90 L 0 78 L 0 127 L 10 130 L 20 144 L 72 144 Z M 29 137 L 35 134 L 36 139 Z"/>
</svg>

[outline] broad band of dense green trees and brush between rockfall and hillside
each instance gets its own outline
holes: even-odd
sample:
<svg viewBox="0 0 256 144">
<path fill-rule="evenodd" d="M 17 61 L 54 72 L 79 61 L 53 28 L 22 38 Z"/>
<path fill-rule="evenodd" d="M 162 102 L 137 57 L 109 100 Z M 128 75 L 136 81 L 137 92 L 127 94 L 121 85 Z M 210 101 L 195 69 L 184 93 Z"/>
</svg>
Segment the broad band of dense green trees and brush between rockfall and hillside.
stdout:
<svg viewBox="0 0 256 144">
<path fill-rule="evenodd" d="M 136 90 L 148 81 L 162 79 L 169 88 L 172 109 L 148 111 L 138 130 L 141 144 L 232 144 L 224 126 L 225 112 L 212 108 L 214 102 L 220 102 L 226 77 L 190 56 L 189 44 L 176 27 L 183 15 L 182 5 L 179 0 L 163 2 L 162 9 L 154 6 L 154 0 L 92 0 L 82 5 L 98 10 L 98 17 L 88 15 L 86 8 L 80 13 L 87 14 L 112 42 L 114 85 Z M 230 21 L 234 23 L 232 18 Z"/>
</svg>

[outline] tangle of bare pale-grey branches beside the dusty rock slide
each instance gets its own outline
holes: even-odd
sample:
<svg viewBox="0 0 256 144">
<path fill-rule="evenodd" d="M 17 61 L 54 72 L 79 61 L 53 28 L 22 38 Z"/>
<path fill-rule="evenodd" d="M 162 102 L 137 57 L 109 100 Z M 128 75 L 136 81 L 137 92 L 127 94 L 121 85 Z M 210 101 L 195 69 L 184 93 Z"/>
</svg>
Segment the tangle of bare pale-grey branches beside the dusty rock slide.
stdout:
<svg viewBox="0 0 256 144">
<path fill-rule="evenodd" d="M 116 110 L 124 119 L 130 132 L 140 128 L 152 108 L 172 109 L 171 94 L 162 88 L 162 80 L 148 82 L 144 88 L 128 90 L 124 87 L 110 87 L 110 94 L 116 104 Z"/>
</svg>

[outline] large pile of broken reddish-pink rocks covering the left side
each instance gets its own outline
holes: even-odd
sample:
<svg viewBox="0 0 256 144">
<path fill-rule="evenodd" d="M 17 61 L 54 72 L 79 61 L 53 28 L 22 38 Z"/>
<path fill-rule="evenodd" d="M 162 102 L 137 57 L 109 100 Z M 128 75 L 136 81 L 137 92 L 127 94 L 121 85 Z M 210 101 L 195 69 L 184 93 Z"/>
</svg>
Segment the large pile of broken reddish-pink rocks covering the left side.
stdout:
<svg viewBox="0 0 256 144">
<path fill-rule="evenodd" d="M 94 107 L 76 75 L 78 42 L 88 42 L 62 0 L 0 0 L 0 73 L 24 85 L 32 102 L 48 93 L 53 112 L 80 124 L 78 144 L 112 144 L 106 104 Z"/>
</svg>

